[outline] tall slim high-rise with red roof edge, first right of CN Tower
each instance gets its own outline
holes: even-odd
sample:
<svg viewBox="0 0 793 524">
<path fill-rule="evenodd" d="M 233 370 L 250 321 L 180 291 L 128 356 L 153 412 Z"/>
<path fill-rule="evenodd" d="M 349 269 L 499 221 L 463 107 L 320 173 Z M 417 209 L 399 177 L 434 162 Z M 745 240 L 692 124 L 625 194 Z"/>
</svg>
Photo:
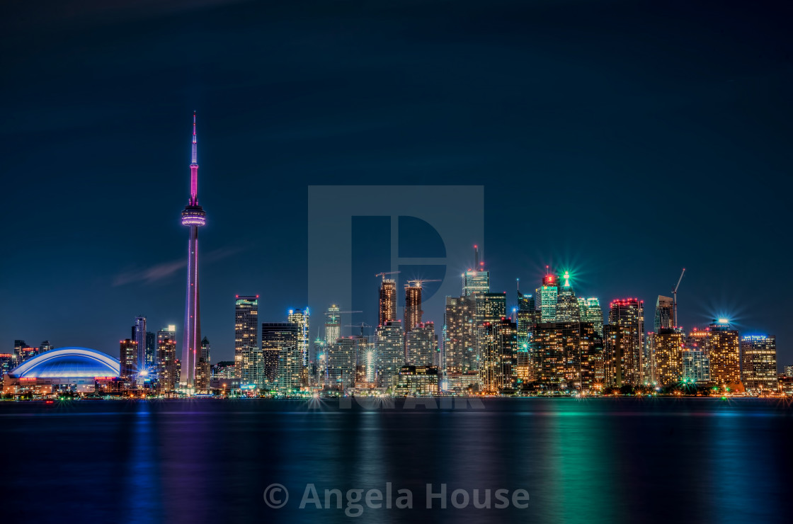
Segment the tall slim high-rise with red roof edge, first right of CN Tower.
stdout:
<svg viewBox="0 0 793 524">
<path fill-rule="evenodd" d="M 235 296 L 234 372 L 239 384 L 264 385 L 264 361 L 259 347 L 259 295 Z M 184 362 L 182 362 L 182 366 Z M 182 369 L 182 373 L 184 369 Z"/>
</svg>

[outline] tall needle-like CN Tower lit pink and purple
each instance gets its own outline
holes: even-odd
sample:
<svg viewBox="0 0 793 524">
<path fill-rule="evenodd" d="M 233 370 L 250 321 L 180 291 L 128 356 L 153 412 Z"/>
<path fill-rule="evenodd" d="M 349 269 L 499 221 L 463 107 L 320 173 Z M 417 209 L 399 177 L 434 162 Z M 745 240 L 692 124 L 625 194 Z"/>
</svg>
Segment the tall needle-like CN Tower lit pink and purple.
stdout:
<svg viewBox="0 0 793 524">
<path fill-rule="evenodd" d="M 198 205 L 198 157 L 196 147 L 196 113 L 193 113 L 193 156 L 190 162 L 190 201 L 182 211 L 182 225 L 190 228 L 187 243 L 187 297 L 185 299 L 185 333 L 182 335 L 182 375 L 179 384 L 195 386 L 197 354 L 201 351 L 201 315 L 198 307 L 198 228 L 206 224 L 204 208 Z"/>
</svg>

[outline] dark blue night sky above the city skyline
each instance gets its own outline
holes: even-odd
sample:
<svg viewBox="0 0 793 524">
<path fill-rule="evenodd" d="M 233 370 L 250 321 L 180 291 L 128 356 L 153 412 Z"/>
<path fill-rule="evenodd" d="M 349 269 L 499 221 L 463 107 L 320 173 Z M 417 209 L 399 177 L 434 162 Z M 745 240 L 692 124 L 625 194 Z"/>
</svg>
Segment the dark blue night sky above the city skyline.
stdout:
<svg viewBox="0 0 793 524">
<path fill-rule="evenodd" d="M 492 290 L 569 269 L 651 329 L 686 267 L 686 329 L 793 363 L 787 2 L 276 3 L 3 2 L 0 350 L 117 356 L 138 314 L 181 339 L 197 110 L 213 361 L 236 293 L 306 305 L 307 186 L 456 184 L 485 186 Z"/>
</svg>

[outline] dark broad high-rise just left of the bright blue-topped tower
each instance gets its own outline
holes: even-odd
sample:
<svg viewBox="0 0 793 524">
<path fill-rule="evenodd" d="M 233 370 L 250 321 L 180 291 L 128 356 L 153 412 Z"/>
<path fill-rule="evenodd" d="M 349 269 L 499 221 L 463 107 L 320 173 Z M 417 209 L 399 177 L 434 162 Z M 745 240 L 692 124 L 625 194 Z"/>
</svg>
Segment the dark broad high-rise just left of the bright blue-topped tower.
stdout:
<svg viewBox="0 0 793 524">
<path fill-rule="evenodd" d="M 276 388 L 279 373 L 287 373 L 282 377 L 289 381 L 285 387 L 293 388 L 294 365 L 299 352 L 299 331 L 297 323 L 293 322 L 262 323 L 262 375 L 263 388 L 266 391 Z"/>
</svg>

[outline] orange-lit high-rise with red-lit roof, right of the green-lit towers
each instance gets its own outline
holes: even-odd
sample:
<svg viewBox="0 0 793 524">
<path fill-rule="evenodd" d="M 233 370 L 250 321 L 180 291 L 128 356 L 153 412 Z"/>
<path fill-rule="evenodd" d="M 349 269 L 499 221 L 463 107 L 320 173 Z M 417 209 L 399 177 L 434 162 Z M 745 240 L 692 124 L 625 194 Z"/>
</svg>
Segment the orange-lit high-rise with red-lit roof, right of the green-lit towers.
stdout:
<svg viewBox="0 0 793 524">
<path fill-rule="evenodd" d="M 635 298 L 612 300 L 609 305 L 608 323 L 626 328 L 626 331 L 623 332 L 621 348 L 623 384 L 634 386 L 643 384 L 645 374 L 644 300 Z"/>
</svg>

